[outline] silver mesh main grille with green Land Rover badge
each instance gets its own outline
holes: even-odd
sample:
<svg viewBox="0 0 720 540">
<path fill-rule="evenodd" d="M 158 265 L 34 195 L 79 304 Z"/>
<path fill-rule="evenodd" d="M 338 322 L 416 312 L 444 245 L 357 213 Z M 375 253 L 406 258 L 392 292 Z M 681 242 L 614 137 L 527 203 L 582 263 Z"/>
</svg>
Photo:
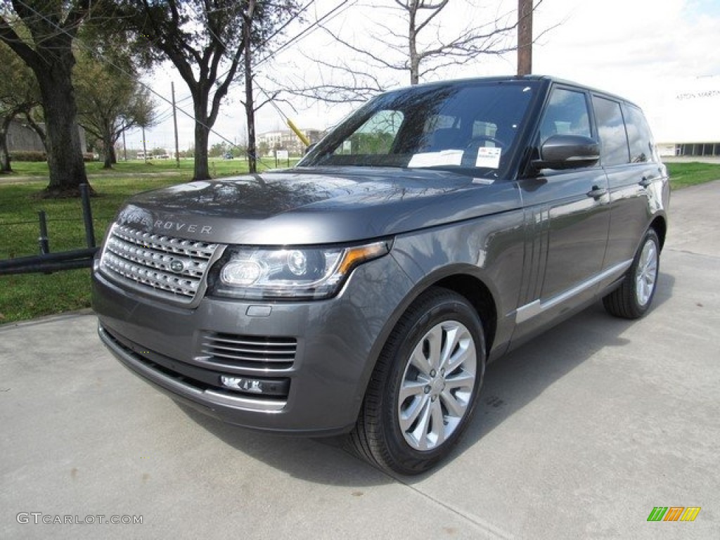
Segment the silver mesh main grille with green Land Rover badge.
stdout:
<svg viewBox="0 0 720 540">
<path fill-rule="evenodd" d="M 102 269 L 145 291 L 192 302 L 217 244 L 143 233 L 113 225 L 102 253 Z"/>
</svg>

